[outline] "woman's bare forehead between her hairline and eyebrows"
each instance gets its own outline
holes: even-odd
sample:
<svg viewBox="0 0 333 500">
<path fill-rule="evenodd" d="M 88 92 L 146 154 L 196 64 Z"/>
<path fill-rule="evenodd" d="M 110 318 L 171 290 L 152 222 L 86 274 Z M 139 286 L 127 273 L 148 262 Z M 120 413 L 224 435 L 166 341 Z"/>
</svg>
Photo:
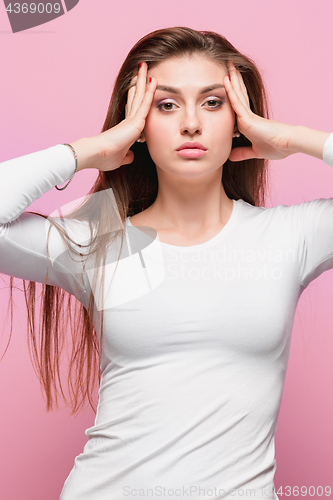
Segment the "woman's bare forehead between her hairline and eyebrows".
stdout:
<svg viewBox="0 0 333 500">
<path fill-rule="evenodd" d="M 148 77 L 154 76 L 158 83 L 181 86 L 188 83 L 202 87 L 223 81 L 228 75 L 227 67 L 206 56 L 194 54 L 172 57 L 148 70 Z"/>
</svg>

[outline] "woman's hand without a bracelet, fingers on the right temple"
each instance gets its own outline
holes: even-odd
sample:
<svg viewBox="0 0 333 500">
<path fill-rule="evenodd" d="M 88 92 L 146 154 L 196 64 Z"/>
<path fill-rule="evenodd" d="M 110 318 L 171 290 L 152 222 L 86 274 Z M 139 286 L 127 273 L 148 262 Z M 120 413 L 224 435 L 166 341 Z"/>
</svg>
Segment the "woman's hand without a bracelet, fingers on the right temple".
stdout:
<svg viewBox="0 0 333 500">
<path fill-rule="evenodd" d="M 224 78 L 224 86 L 230 104 L 236 113 L 238 131 L 252 146 L 236 147 L 231 150 L 229 160 L 242 161 L 249 158 L 280 160 L 296 153 L 290 147 L 293 125 L 268 120 L 256 115 L 250 109 L 249 97 L 239 71 L 233 63 L 228 63 L 230 74 Z"/>
</svg>

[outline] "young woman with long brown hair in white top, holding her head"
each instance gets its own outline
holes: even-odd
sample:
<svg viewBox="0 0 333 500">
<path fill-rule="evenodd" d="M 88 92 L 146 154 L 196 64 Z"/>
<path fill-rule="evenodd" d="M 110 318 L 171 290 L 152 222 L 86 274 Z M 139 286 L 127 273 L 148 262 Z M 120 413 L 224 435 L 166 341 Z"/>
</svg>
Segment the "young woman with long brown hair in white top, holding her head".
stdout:
<svg viewBox="0 0 333 500">
<path fill-rule="evenodd" d="M 249 58 L 176 27 L 129 52 L 100 135 L 0 165 L 0 271 L 24 280 L 47 409 L 64 318 L 74 412 L 100 382 L 61 500 L 278 498 L 294 313 L 333 268 L 333 198 L 264 207 L 267 160 L 297 152 L 333 166 L 333 134 L 270 120 Z M 84 168 L 76 210 L 24 212 Z"/>
</svg>

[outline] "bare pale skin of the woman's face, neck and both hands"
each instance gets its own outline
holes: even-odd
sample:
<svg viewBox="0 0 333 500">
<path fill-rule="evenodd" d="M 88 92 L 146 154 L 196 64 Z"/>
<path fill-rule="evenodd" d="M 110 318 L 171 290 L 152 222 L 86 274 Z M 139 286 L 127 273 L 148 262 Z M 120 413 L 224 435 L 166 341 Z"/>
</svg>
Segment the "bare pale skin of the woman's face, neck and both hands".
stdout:
<svg viewBox="0 0 333 500">
<path fill-rule="evenodd" d="M 204 88 L 216 84 L 222 88 L 202 94 Z M 71 144 L 78 156 L 78 170 L 106 171 L 133 161 L 129 148 L 137 139 L 147 142 L 159 190 L 155 202 L 130 220 L 135 226 L 153 227 L 166 243 L 200 244 L 227 223 L 232 200 L 221 177 L 228 158 L 278 160 L 295 153 L 323 158 L 330 133 L 255 115 L 242 76 L 231 62 L 226 67 L 196 54 L 167 59 L 149 70 L 143 62 L 132 85 L 121 123 Z M 172 86 L 177 94 L 157 86 Z M 252 147 L 231 150 L 232 137 L 238 131 Z M 178 155 L 176 149 L 191 141 L 207 148 L 203 157 Z"/>
</svg>

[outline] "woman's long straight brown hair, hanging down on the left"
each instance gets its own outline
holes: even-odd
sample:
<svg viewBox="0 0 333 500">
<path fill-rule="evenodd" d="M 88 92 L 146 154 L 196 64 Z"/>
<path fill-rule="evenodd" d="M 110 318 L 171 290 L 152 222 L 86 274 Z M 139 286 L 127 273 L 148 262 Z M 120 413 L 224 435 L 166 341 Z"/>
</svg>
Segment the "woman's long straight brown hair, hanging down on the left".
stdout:
<svg viewBox="0 0 333 500">
<path fill-rule="evenodd" d="M 191 54 L 202 54 L 211 60 L 225 65 L 232 59 L 242 74 L 248 90 L 250 106 L 254 113 L 268 118 L 267 97 L 263 81 L 254 62 L 241 54 L 223 36 L 211 31 L 195 31 L 186 27 L 173 27 L 153 31 L 139 40 L 130 50 L 117 76 L 112 92 L 107 116 L 102 132 L 114 127 L 125 118 L 125 104 L 131 79 L 138 71 L 141 61 L 146 61 L 148 68 L 169 57 L 181 57 Z M 233 147 L 246 146 L 251 143 L 244 137 L 233 139 Z M 158 182 L 154 162 L 146 143 L 135 142 L 131 146 L 134 161 L 116 170 L 100 171 L 96 182 L 90 189 L 86 200 L 80 207 L 66 215 L 67 219 L 86 221 L 91 231 L 91 243 L 88 255 L 95 255 L 96 269 L 105 263 L 108 245 L 113 241 L 112 235 L 121 235 L 121 247 L 125 233 L 125 219 L 148 208 L 156 199 Z M 250 159 L 242 162 L 230 162 L 223 165 L 222 184 L 230 199 L 243 199 L 255 206 L 265 205 L 267 186 L 267 161 Z M 114 210 L 110 210 L 110 197 L 103 192 L 114 195 Z M 100 196 L 92 196 L 99 193 Z M 97 201 L 96 201 L 97 200 Z M 35 213 L 35 212 L 30 212 Z M 121 229 L 114 231 L 117 225 L 115 213 L 121 221 Z M 47 217 L 43 214 L 37 214 Z M 78 251 L 70 244 L 75 243 L 63 226 L 55 218 L 48 217 L 67 242 L 70 250 Z M 87 309 L 72 295 L 60 287 L 40 284 L 40 328 L 39 340 L 36 335 L 35 282 L 23 280 L 23 290 L 27 306 L 29 348 L 32 351 L 32 362 L 41 387 L 46 395 L 47 411 L 58 406 L 58 388 L 66 403 L 77 413 L 86 398 L 96 412 L 92 399 L 96 382 L 100 382 L 100 360 L 103 335 L 103 311 L 101 311 L 100 337 L 94 327 L 92 317 L 94 310 L 93 291 L 90 294 Z M 102 283 L 103 286 L 103 283 Z M 13 314 L 12 292 L 13 277 L 10 278 L 10 311 Z M 72 353 L 69 362 L 68 388 L 70 401 L 65 396 L 60 376 L 59 360 L 63 350 L 61 332 L 70 324 Z M 10 340 L 10 339 L 9 339 Z M 54 396 L 53 396 L 54 391 Z"/>
</svg>

